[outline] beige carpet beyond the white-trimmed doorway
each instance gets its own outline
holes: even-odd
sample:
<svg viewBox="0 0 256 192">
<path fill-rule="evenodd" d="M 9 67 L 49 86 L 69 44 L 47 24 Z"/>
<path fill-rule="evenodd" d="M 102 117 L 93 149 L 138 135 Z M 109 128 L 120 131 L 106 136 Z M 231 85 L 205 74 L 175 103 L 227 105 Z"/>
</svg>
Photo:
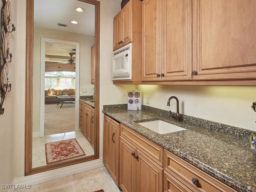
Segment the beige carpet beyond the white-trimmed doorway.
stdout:
<svg viewBox="0 0 256 192">
<path fill-rule="evenodd" d="M 75 104 L 44 105 L 44 135 L 71 132 L 75 130 Z"/>
</svg>

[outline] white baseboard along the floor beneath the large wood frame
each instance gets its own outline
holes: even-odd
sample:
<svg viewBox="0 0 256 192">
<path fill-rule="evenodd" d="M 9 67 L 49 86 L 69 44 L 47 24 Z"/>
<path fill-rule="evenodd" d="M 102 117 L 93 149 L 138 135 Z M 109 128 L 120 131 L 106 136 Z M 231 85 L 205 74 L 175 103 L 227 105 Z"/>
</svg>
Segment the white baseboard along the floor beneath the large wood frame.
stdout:
<svg viewBox="0 0 256 192">
<path fill-rule="evenodd" d="M 54 170 L 50 170 L 50 171 L 46 171 L 46 172 L 32 174 L 29 176 L 15 178 L 14 185 L 22 185 L 22 184 L 36 185 L 36 184 L 51 181 L 54 179 L 59 179 L 62 177 L 73 175 L 73 174 L 100 168 L 103 166 L 104 166 L 104 164 L 103 164 L 102 158 L 100 158 L 100 159 L 92 160 L 89 162 L 84 162 L 84 163 L 75 164 L 75 165 L 71 165 L 71 166 L 67 166 L 67 167 L 62 167 L 62 168 L 58 168 L 58 169 L 54 169 Z M 12 191 L 10 191 L 10 192 L 12 192 Z"/>
</svg>

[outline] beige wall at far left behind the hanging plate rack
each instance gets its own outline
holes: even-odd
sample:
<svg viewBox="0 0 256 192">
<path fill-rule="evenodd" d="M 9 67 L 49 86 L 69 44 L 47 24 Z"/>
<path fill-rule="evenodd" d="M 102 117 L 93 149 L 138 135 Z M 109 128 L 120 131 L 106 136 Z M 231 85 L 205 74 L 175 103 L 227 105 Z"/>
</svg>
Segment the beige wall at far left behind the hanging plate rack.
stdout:
<svg viewBox="0 0 256 192">
<path fill-rule="evenodd" d="M 12 62 L 8 68 L 12 90 L 6 94 L 4 114 L 0 115 L 1 184 L 11 184 L 16 173 L 24 174 L 26 1 L 10 0 L 10 3 L 16 31 L 9 34 Z M 0 191 L 7 190 L 0 188 Z"/>
</svg>

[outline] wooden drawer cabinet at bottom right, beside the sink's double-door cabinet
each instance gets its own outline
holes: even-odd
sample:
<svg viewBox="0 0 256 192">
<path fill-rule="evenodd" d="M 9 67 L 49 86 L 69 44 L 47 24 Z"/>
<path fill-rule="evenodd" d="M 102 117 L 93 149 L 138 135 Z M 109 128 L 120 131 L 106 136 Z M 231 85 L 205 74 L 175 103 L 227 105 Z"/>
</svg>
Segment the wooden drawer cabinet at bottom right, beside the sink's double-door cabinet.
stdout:
<svg viewBox="0 0 256 192">
<path fill-rule="evenodd" d="M 164 150 L 164 192 L 236 192 L 226 184 Z"/>
</svg>

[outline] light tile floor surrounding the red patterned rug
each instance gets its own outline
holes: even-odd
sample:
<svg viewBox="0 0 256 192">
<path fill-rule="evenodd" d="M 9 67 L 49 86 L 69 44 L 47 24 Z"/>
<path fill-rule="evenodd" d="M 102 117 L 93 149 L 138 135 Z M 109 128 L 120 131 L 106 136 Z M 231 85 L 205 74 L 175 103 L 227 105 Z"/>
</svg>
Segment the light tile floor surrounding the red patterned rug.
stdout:
<svg viewBox="0 0 256 192">
<path fill-rule="evenodd" d="M 45 144 L 55 141 L 76 138 L 77 142 L 84 150 L 86 156 L 94 154 L 94 149 L 85 138 L 84 134 L 80 131 L 59 133 L 46 135 L 44 137 L 32 138 L 32 168 L 41 167 L 46 165 Z M 84 157 L 84 156 L 83 156 Z M 79 158 L 79 157 L 78 157 Z"/>
</svg>

